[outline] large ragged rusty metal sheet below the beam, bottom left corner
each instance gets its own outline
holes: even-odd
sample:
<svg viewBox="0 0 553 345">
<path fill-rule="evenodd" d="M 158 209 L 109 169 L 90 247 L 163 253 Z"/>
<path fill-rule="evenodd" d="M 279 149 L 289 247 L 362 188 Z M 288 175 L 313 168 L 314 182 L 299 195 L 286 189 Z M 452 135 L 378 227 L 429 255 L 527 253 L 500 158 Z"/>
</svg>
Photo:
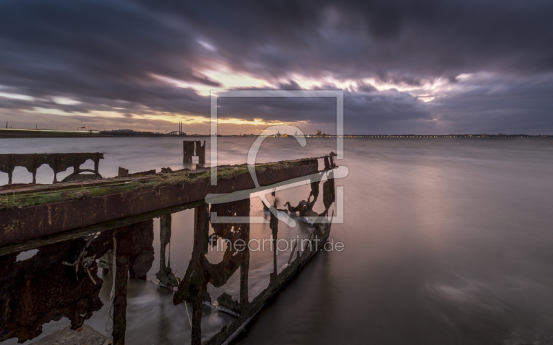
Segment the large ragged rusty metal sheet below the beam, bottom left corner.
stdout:
<svg viewBox="0 0 553 345">
<path fill-rule="evenodd" d="M 62 317 L 77 329 L 102 308 L 102 279 L 95 263 L 88 270 L 96 283 L 87 272 L 75 275 L 72 267 L 63 265 L 73 262 L 84 244 L 77 239 L 46 245 L 34 257 L 17 262 L 17 253 L 0 257 L 0 341 L 17 337 L 25 342 L 40 335 L 43 324 Z"/>
</svg>

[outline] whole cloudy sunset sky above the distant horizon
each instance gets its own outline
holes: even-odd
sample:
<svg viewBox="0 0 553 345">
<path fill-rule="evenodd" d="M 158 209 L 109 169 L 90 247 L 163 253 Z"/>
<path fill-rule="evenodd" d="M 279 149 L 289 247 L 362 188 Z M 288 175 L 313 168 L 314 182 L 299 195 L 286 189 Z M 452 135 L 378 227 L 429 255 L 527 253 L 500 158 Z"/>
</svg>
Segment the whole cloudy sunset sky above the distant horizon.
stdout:
<svg viewBox="0 0 553 345">
<path fill-rule="evenodd" d="M 0 124 L 209 133 L 209 92 L 343 90 L 349 134 L 553 134 L 553 1 L 0 1 Z M 336 131 L 220 98 L 219 133 Z"/>
</svg>

